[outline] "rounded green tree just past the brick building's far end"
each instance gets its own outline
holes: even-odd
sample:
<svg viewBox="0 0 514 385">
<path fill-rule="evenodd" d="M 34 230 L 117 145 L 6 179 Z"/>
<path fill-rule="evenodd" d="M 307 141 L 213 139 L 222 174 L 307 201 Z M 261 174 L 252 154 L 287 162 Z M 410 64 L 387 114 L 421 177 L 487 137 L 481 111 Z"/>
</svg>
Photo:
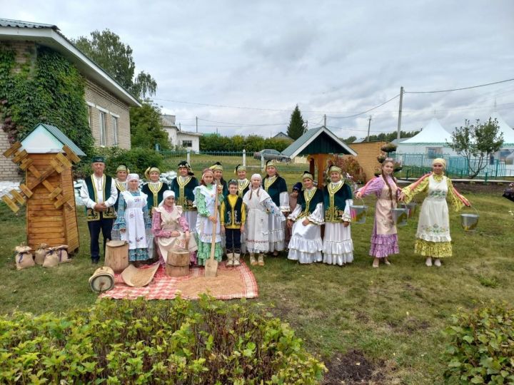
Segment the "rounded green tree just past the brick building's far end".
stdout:
<svg viewBox="0 0 514 385">
<path fill-rule="evenodd" d="M 141 107 L 132 107 L 131 143 L 133 147 L 155 148 L 156 143 L 161 150 L 168 150 L 170 143 L 168 133 L 161 123 L 161 109 L 148 99 Z"/>
</svg>

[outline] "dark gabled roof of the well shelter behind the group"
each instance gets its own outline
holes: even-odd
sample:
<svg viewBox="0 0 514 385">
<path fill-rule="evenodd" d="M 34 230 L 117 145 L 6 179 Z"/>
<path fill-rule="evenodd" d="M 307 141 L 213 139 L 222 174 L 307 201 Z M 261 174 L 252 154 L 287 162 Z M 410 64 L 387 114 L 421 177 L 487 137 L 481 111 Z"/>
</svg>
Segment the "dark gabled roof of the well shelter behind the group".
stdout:
<svg viewBox="0 0 514 385">
<path fill-rule="evenodd" d="M 324 125 L 311 128 L 282 151 L 282 155 L 294 158 L 298 155 L 347 154 L 357 155 L 346 143 Z"/>
</svg>

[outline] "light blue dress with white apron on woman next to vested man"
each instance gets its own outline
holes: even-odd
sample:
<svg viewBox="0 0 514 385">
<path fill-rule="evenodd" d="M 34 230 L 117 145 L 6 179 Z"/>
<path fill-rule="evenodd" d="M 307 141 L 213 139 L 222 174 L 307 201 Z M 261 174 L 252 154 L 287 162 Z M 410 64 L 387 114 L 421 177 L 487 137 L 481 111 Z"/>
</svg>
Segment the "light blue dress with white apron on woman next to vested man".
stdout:
<svg viewBox="0 0 514 385">
<path fill-rule="evenodd" d="M 129 242 L 129 261 L 146 261 L 148 245 L 153 243 L 151 220 L 146 207 L 146 194 L 141 191 L 124 191 L 119 197 L 118 217 L 113 230 L 121 232 L 121 240 Z"/>
</svg>

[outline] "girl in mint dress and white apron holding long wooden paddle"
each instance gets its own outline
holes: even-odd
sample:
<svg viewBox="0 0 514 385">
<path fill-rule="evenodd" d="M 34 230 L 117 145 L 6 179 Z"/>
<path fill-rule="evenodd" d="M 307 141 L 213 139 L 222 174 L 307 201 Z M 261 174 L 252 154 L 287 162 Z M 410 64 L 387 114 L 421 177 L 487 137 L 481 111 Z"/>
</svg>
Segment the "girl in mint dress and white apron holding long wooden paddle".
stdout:
<svg viewBox="0 0 514 385">
<path fill-rule="evenodd" d="M 223 248 L 221 247 L 221 227 L 219 217 L 214 217 L 215 210 L 219 209 L 219 205 L 223 202 L 223 194 L 221 186 L 218 188 L 218 202 L 215 202 L 216 185 L 213 183 L 213 170 L 206 168 L 203 170 L 200 185 L 194 190 L 194 205 L 198 210 L 196 217 L 196 233 L 198 234 L 198 252 L 196 254 L 197 263 L 205 266 L 206 260 L 211 255 L 211 240 L 214 236 L 216 245 L 214 249 L 214 258 L 218 262 L 223 256 Z M 213 235 L 214 229 L 214 235 Z"/>
</svg>

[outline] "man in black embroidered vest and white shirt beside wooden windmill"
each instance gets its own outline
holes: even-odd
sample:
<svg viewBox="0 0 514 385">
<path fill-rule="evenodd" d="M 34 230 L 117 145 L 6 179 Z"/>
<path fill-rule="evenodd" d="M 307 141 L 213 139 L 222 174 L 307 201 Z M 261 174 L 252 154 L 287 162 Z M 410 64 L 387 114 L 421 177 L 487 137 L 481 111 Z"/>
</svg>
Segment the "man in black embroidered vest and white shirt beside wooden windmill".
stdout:
<svg viewBox="0 0 514 385">
<path fill-rule="evenodd" d="M 104 174 L 104 157 L 95 156 L 91 160 L 91 167 L 93 168 L 93 174 L 84 179 L 81 187 L 81 198 L 86 206 L 86 217 L 91 237 L 91 262 L 96 264 L 100 260 L 100 230 L 104 237 L 104 255 L 106 242 L 111 239 L 112 225 L 114 218 L 116 218 L 114 204 L 118 197 L 118 190 L 116 190 L 116 184 L 112 178 Z"/>
</svg>

